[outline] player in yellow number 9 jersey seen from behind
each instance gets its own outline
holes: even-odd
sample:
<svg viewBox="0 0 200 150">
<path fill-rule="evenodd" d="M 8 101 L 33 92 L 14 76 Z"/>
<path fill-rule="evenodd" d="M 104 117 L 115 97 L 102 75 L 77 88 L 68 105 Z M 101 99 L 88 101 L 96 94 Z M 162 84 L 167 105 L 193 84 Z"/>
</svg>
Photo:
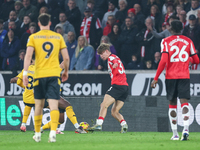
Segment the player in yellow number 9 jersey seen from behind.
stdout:
<svg viewBox="0 0 200 150">
<path fill-rule="evenodd" d="M 47 98 L 50 107 L 51 130 L 49 142 L 56 142 L 56 129 L 59 121 L 58 100 L 60 99 L 60 67 L 59 52 L 63 57 L 64 71 L 62 81 L 68 79 L 69 55 L 62 35 L 50 30 L 51 16 L 42 13 L 38 17 L 40 31 L 29 36 L 27 50 L 24 59 L 23 84 L 28 86 L 27 71 L 35 51 L 34 74 L 34 128 L 33 139 L 41 141 L 40 127 L 42 124 L 43 107 Z"/>
</svg>

